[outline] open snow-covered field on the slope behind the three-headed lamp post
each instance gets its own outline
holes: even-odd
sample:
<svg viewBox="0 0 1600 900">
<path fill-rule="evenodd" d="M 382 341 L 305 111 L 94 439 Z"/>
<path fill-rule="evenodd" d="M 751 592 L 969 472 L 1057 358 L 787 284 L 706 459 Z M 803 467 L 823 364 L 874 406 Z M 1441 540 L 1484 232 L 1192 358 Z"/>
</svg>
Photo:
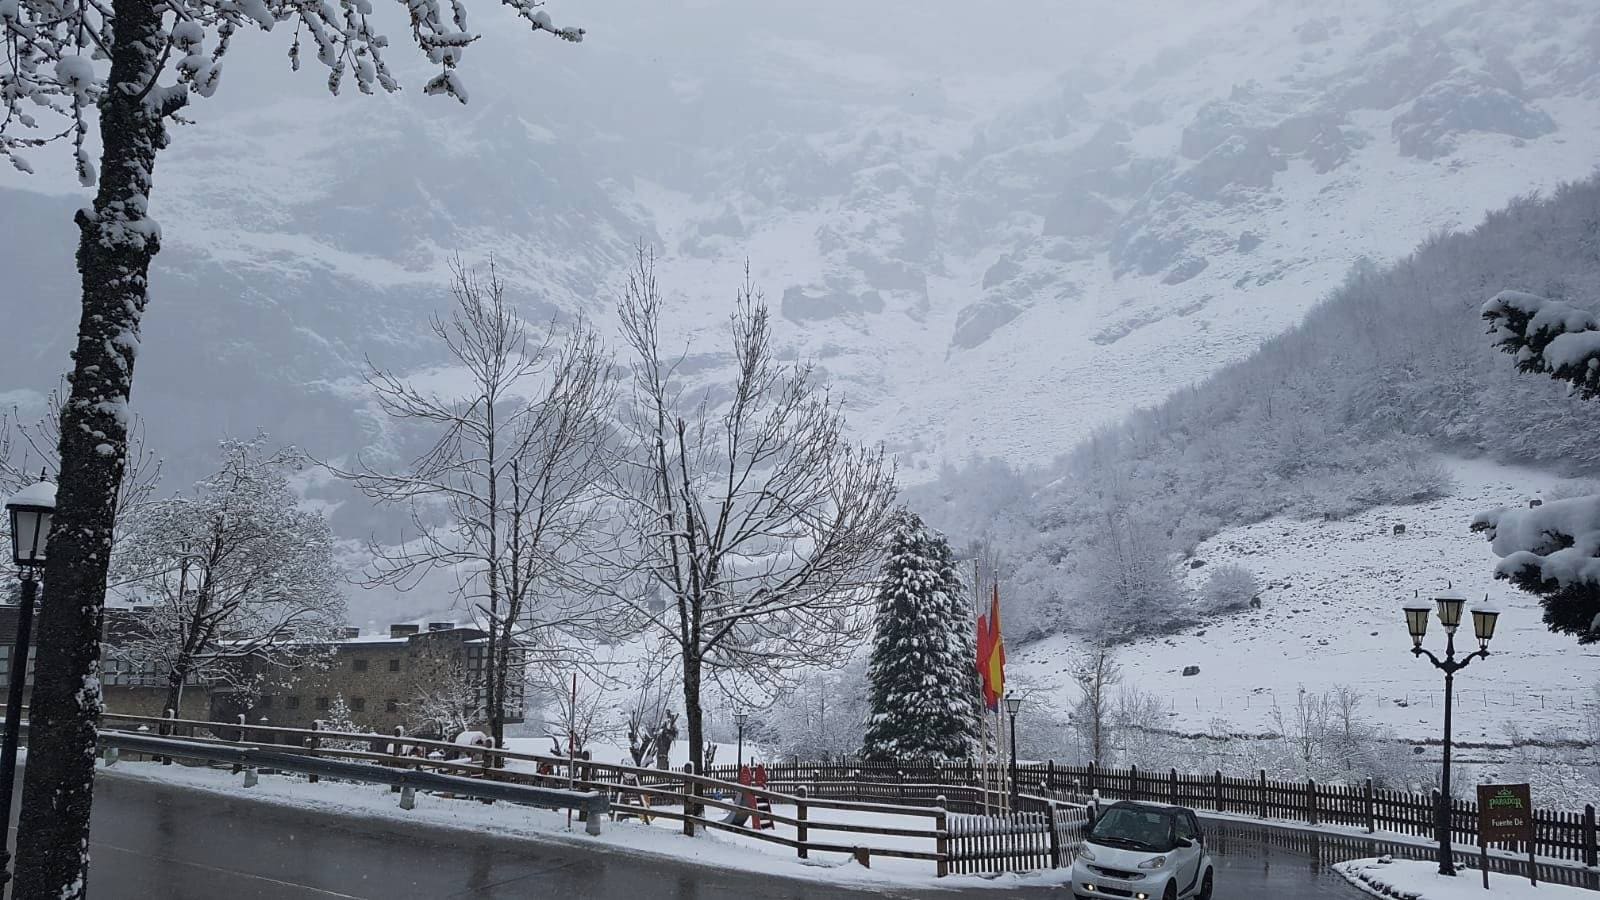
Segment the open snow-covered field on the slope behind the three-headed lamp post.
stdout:
<svg viewBox="0 0 1600 900">
<path fill-rule="evenodd" d="M 1243 565 L 1262 585 L 1261 609 L 1125 647 L 1123 685 L 1166 698 L 1170 729 L 1205 732 L 1221 719 L 1235 732 L 1269 732 L 1274 705 L 1291 709 L 1301 687 L 1347 684 L 1366 695 L 1365 717 L 1405 738 L 1434 738 L 1443 679 L 1411 657 L 1400 605 L 1448 578 L 1467 596 L 1488 594 L 1504 613 L 1494 655 L 1456 681 L 1456 738 L 1504 741 L 1509 719 L 1526 735 L 1571 735 L 1594 701 L 1600 647 L 1546 631 L 1533 596 L 1493 580 L 1496 557 L 1469 522 L 1482 509 L 1525 506 L 1576 484 L 1483 461 L 1446 463 L 1458 485 L 1440 501 L 1378 508 L 1342 522 L 1269 519 L 1205 541 L 1195 559 L 1206 565 L 1189 572 L 1190 585 L 1203 585 L 1216 565 Z M 1392 533 L 1397 524 L 1405 535 Z M 1459 636 L 1469 633 L 1470 625 Z M 1462 644 L 1477 649 L 1470 637 Z M 1443 649 L 1437 620 L 1427 647 Z M 1067 711 L 1075 701 L 1067 666 L 1077 649 L 1062 636 L 1021 647 L 1011 655 L 1013 677 Z M 1200 666 L 1200 674 L 1184 677 L 1184 666 Z"/>
</svg>

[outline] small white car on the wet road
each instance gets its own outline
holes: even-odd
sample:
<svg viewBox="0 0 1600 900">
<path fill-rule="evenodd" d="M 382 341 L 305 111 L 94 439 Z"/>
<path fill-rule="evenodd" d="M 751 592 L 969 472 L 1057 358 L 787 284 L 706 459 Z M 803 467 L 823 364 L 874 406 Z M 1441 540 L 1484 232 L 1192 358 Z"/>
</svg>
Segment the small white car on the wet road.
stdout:
<svg viewBox="0 0 1600 900">
<path fill-rule="evenodd" d="M 1211 900 L 1211 854 L 1194 810 L 1115 802 L 1099 812 L 1072 863 L 1077 900 Z"/>
</svg>

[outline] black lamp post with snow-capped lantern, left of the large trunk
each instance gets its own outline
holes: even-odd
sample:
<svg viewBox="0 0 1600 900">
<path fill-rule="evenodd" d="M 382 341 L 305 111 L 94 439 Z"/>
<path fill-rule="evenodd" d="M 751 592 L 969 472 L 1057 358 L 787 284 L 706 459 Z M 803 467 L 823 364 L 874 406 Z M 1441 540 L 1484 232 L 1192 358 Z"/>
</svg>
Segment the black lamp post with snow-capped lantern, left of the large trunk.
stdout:
<svg viewBox="0 0 1600 900">
<path fill-rule="evenodd" d="M 16 743 L 22 730 L 22 690 L 27 684 L 27 650 L 34 631 L 34 604 L 38 599 L 38 570 L 45 565 L 45 541 L 50 519 L 56 512 L 56 485 L 40 476 L 6 501 L 11 516 L 11 560 L 22 580 L 22 597 L 16 609 L 16 642 L 11 647 L 8 693 L 5 701 L 5 737 L 0 738 L 0 889 L 11 881 L 11 788 L 16 783 Z"/>
</svg>

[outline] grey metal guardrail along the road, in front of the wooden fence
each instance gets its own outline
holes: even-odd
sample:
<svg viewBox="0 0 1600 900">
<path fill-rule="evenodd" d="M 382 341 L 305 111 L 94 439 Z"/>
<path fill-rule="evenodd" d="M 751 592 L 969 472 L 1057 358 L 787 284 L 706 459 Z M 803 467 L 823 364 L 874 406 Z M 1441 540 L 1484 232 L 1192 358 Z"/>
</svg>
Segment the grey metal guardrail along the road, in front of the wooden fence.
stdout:
<svg viewBox="0 0 1600 900">
<path fill-rule="evenodd" d="M 466 778 L 462 775 L 443 775 L 440 772 L 389 769 L 366 762 L 347 762 L 342 759 L 306 756 L 302 753 L 285 753 L 282 749 L 262 749 L 250 745 L 229 746 L 224 743 L 197 743 L 109 730 L 102 730 L 99 733 L 99 745 L 102 749 L 115 748 L 117 751 L 171 756 L 174 759 L 226 762 L 242 769 L 277 769 L 282 772 L 298 772 L 322 778 L 342 778 L 347 781 L 389 785 L 402 790 L 413 788 L 421 791 L 448 791 L 451 794 L 477 799 L 506 801 L 544 809 L 581 810 L 586 814 L 586 831 L 589 834 L 598 834 L 600 822 L 608 812 L 611 812 L 610 798 L 600 791 L 563 791 L 557 788 L 536 788 L 531 785 L 491 781 L 485 778 Z"/>
</svg>

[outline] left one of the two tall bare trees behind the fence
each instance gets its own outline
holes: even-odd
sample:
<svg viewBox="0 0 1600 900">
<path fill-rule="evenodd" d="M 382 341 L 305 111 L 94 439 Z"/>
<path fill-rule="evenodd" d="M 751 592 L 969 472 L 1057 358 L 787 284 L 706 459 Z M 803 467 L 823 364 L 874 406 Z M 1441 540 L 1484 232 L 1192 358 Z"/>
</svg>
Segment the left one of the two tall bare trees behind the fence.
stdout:
<svg viewBox="0 0 1600 900">
<path fill-rule="evenodd" d="M 594 604 L 562 589 L 562 572 L 605 468 L 610 364 L 582 322 L 565 340 L 554 323 L 530 340 L 493 263 L 486 277 L 459 261 L 453 272 L 454 309 L 434 319 L 434 335 L 466 372 L 466 388 L 440 396 L 376 367 L 368 375 L 384 413 L 430 429 L 430 445 L 398 471 L 330 469 L 408 516 L 405 543 L 371 541 L 366 585 L 410 589 L 445 570 L 485 623 L 483 708 L 501 746 L 514 669 L 530 650 L 571 645 L 554 633 L 597 620 Z"/>
</svg>

